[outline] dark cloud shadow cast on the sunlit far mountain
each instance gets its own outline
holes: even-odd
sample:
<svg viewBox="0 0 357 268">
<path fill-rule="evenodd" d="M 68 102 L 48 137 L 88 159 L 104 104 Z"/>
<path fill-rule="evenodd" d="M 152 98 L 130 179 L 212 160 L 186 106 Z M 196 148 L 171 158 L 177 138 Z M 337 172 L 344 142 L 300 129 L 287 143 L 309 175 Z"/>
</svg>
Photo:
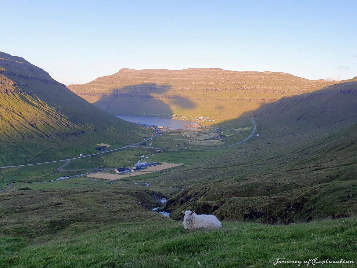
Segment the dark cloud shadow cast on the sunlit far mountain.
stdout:
<svg viewBox="0 0 357 268">
<path fill-rule="evenodd" d="M 189 99 L 183 99 L 178 95 L 165 96 L 171 85 L 137 84 L 111 89 L 110 94 L 100 95 L 99 100 L 93 104 L 110 114 L 143 115 L 160 113 L 160 115 L 172 115 L 170 105 L 180 109 L 196 108 Z M 157 94 L 157 95 L 156 95 Z M 96 95 L 96 94 L 90 94 Z"/>
</svg>

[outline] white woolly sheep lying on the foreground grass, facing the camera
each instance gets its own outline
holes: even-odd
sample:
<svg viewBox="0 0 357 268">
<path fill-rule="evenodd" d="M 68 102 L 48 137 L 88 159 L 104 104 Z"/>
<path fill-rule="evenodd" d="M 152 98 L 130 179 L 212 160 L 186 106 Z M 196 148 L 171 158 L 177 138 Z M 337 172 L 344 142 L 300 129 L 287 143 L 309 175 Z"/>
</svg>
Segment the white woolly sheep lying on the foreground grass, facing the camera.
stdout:
<svg viewBox="0 0 357 268">
<path fill-rule="evenodd" d="M 183 228 L 188 230 L 195 229 L 219 229 L 222 228 L 221 222 L 213 215 L 197 215 L 191 210 L 182 211 Z"/>
</svg>

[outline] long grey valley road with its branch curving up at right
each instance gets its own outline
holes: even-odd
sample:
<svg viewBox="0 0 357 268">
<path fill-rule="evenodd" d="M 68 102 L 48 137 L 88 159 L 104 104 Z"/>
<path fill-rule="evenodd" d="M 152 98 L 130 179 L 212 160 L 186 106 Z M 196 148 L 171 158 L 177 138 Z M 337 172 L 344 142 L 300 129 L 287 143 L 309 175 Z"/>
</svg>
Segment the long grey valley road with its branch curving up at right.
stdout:
<svg viewBox="0 0 357 268">
<path fill-rule="evenodd" d="M 249 138 L 251 138 L 254 133 L 255 133 L 255 130 L 257 128 L 255 122 L 254 122 L 254 119 L 255 116 L 253 116 L 251 118 L 251 121 L 254 125 L 254 129 L 252 131 L 252 133 L 247 137 L 245 138 L 244 140 L 240 141 L 240 142 L 237 142 L 237 143 L 233 143 L 233 144 L 230 144 L 230 145 L 225 145 L 225 146 L 220 146 L 220 147 L 211 147 L 211 148 L 205 148 L 205 149 L 166 149 L 166 148 L 153 148 L 153 147 L 143 147 L 143 146 L 136 146 L 136 145 L 139 145 L 141 143 L 144 143 L 144 142 L 147 142 L 148 140 L 152 139 L 152 138 L 155 138 L 157 137 L 158 135 L 160 135 L 161 131 L 159 128 L 156 128 L 157 129 L 157 134 L 155 134 L 154 136 L 152 137 L 149 137 L 145 140 L 142 140 L 141 142 L 138 142 L 138 143 L 134 143 L 134 144 L 131 144 L 131 145 L 125 145 L 123 147 L 120 147 L 120 148 L 117 148 L 117 149 L 112 149 L 112 150 L 107 150 L 105 152 L 100 152 L 100 153 L 95 153 L 95 154 L 89 154 L 89 155 L 84 155 L 82 157 L 74 157 L 74 158 L 68 158 L 68 159 L 62 159 L 62 160 L 55 160 L 55 161 L 49 161 L 49 162 L 41 162 L 41 163 L 35 163 L 35 164 L 25 164 L 25 165 L 14 165 L 14 166 L 7 166 L 7 167 L 0 167 L 0 169 L 5 169 L 5 168 L 19 168 L 19 167 L 27 167 L 27 166 L 33 166 L 33 165 L 42 165 L 42 164 L 50 164 L 50 163 L 58 163 L 58 162 L 65 162 L 65 161 L 71 161 L 71 160 L 75 160 L 75 159 L 79 159 L 79 158 L 86 158 L 86 157 L 91 157 L 91 156 L 94 156 L 94 155 L 99 155 L 99 154 L 106 154 L 106 153 L 111 153 L 111 152 L 115 152 L 115 151 L 118 151 L 118 150 L 122 150 L 122 149 L 125 149 L 125 148 L 150 148 L 150 149 L 157 149 L 157 150 L 166 150 L 166 151 L 206 151 L 206 150 L 213 150 L 213 149 L 219 149 L 219 148 L 225 148 L 225 147 L 230 147 L 230 146 L 234 146 L 234 145 L 237 145 L 237 144 L 241 144 L 243 142 L 245 142 L 246 140 L 248 140 Z"/>
</svg>

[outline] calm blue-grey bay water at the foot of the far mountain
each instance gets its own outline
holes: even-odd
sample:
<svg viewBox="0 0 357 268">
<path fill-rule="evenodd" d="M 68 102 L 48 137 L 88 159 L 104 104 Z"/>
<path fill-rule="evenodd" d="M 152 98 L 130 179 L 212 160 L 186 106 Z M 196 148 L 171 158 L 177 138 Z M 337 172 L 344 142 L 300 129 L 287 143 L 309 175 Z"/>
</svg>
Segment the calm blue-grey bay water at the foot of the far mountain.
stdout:
<svg viewBox="0 0 357 268">
<path fill-rule="evenodd" d="M 154 116 L 139 116 L 139 115 L 116 115 L 121 119 L 129 122 L 140 122 L 148 125 L 155 126 L 170 126 L 172 129 L 185 129 L 183 125 L 189 125 L 191 123 L 196 123 L 195 121 L 188 120 L 177 120 L 177 119 L 165 119 Z"/>
</svg>

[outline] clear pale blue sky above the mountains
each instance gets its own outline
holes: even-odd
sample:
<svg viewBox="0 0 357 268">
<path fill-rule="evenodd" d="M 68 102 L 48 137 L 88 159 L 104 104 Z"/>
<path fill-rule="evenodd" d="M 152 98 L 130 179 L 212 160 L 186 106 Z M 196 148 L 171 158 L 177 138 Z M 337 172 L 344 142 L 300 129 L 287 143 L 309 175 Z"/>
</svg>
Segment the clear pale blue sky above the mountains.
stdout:
<svg viewBox="0 0 357 268">
<path fill-rule="evenodd" d="M 0 51 L 69 85 L 121 68 L 357 76 L 357 1 L 5 1 Z"/>
</svg>

